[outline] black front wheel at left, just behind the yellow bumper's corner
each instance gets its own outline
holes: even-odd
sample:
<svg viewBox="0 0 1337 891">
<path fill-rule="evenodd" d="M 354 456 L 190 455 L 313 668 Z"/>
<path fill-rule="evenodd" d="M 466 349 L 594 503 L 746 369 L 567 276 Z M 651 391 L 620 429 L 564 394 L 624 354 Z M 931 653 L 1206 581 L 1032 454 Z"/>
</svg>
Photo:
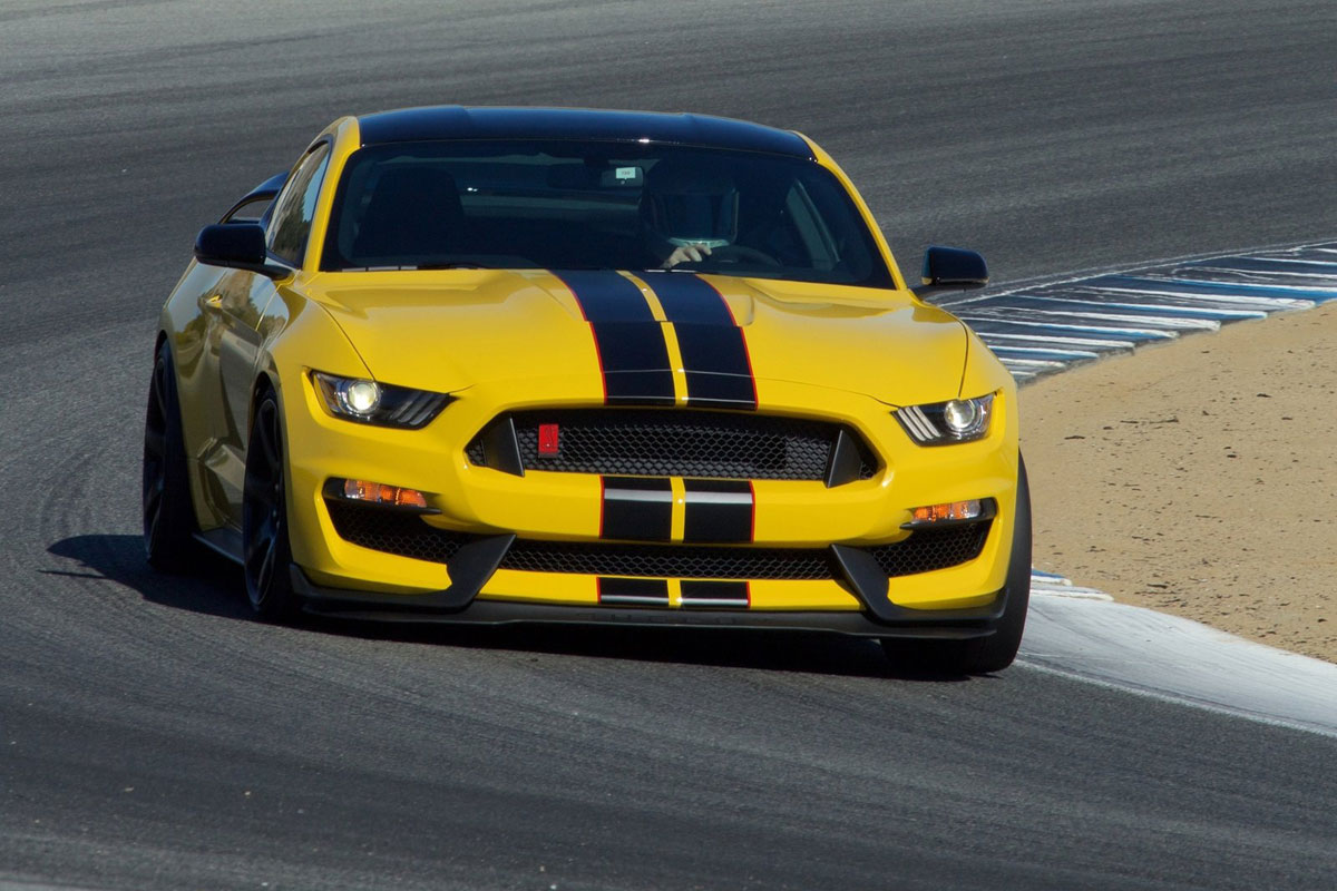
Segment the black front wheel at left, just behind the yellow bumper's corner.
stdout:
<svg viewBox="0 0 1337 891">
<path fill-rule="evenodd" d="M 255 616 L 275 622 L 291 621 L 297 616 L 297 597 L 289 576 L 293 549 L 287 537 L 287 465 L 282 426 L 278 398 L 273 390 L 266 390 L 255 403 L 246 446 L 242 574 Z"/>
</svg>

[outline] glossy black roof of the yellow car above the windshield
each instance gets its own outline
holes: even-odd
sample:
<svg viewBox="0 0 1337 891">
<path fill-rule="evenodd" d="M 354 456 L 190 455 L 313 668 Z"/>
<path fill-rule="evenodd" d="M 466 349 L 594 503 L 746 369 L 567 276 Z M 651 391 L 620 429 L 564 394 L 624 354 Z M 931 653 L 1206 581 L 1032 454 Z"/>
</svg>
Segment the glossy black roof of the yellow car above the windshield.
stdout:
<svg viewBox="0 0 1337 891">
<path fill-rule="evenodd" d="M 364 146 L 428 139 L 591 139 L 674 143 L 813 158 L 787 130 L 730 118 L 588 108 L 401 108 L 357 119 Z"/>
</svg>

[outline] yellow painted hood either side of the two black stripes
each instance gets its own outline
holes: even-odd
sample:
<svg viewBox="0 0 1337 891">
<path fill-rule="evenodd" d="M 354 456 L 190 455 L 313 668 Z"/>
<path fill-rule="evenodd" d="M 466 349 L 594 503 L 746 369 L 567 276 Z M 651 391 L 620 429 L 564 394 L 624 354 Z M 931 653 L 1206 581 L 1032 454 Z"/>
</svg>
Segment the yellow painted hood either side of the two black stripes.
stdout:
<svg viewBox="0 0 1337 891">
<path fill-rule="evenodd" d="M 682 274 L 642 279 L 654 275 Z M 714 323 L 743 329 L 758 394 L 765 381 L 785 381 L 890 405 L 957 395 L 965 329 L 905 291 L 699 278 L 729 307 Z M 599 381 L 588 307 L 551 273 L 344 273 L 317 277 L 306 290 L 386 383 L 455 391 L 535 377 Z"/>
</svg>

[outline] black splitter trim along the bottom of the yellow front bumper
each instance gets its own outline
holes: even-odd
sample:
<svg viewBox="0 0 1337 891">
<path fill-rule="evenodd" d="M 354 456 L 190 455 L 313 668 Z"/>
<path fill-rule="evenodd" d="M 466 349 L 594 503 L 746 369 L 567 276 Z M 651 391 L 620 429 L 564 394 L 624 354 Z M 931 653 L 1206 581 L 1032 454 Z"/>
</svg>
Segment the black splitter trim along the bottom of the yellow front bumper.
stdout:
<svg viewBox="0 0 1337 891">
<path fill-rule="evenodd" d="M 564 606 L 507 600 L 473 600 L 463 605 L 461 592 L 382 594 L 321 588 L 295 564 L 293 590 L 308 613 L 352 620 L 507 625 L 515 622 L 564 625 L 635 625 L 643 628 L 733 628 L 818 631 L 857 637 L 929 637 L 968 640 L 987 637 L 1007 605 L 1000 590 L 993 602 L 967 609 L 906 609 L 888 604 L 874 617 L 869 612 L 773 612 L 762 609 L 655 609 L 619 606 Z M 491 574 L 491 573 L 488 573 Z"/>
</svg>

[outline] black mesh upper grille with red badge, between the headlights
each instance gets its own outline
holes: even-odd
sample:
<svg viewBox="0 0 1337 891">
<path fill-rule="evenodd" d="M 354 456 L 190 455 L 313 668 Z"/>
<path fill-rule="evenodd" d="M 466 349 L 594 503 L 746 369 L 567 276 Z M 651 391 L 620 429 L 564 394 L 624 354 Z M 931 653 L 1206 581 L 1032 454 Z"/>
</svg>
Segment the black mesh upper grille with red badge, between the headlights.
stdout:
<svg viewBox="0 0 1337 891">
<path fill-rule="evenodd" d="M 822 480 L 836 437 L 844 430 L 858 448 L 858 478 L 877 473 L 877 460 L 862 439 L 852 429 L 825 421 L 691 409 L 554 409 L 508 417 L 515 422 L 527 470 Z M 540 425 L 556 425 L 559 430 L 554 454 L 539 452 Z M 475 437 L 465 452 L 469 461 L 487 466 L 485 433 Z"/>
</svg>

